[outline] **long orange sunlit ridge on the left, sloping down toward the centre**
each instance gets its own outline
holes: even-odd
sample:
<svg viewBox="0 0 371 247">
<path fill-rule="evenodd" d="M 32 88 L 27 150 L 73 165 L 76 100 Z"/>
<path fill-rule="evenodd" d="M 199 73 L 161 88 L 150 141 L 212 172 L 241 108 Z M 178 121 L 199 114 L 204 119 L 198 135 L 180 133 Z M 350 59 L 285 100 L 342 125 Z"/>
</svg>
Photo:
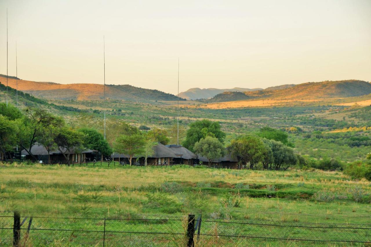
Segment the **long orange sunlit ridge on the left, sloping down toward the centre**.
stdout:
<svg viewBox="0 0 371 247">
<path fill-rule="evenodd" d="M 6 76 L 0 76 L 0 83 L 6 84 Z M 9 87 L 16 88 L 16 78 L 8 77 Z M 102 84 L 76 83 L 58 84 L 52 82 L 37 82 L 18 80 L 18 90 L 32 94 L 35 97 L 57 100 L 99 100 L 103 99 Z M 106 85 L 106 98 L 148 102 L 152 100 L 173 101 L 178 97 L 158 90 L 142 89 L 130 85 Z M 184 99 L 180 99 L 184 100 Z"/>
</svg>

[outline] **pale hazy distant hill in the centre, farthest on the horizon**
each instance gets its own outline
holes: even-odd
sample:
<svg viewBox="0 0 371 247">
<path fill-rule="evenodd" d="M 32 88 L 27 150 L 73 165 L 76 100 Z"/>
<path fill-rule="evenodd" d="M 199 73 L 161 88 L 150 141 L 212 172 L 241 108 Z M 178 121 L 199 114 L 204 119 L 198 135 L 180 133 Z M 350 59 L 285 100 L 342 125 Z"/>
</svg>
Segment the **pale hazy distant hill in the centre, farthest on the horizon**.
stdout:
<svg viewBox="0 0 371 247">
<path fill-rule="evenodd" d="M 241 87 L 234 87 L 233 89 L 200 89 L 198 87 L 193 89 L 188 89 L 187 91 L 179 93 L 179 97 L 187 99 L 187 100 L 197 100 L 197 99 L 209 99 L 217 94 L 228 92 L 228 91 L 239 91 L 239 92 L 245 92 L 245 91 L 256 91 L 256 90 L 263 90 L 260 88 L 256 89 L 245 89 Z"/>
</svg>

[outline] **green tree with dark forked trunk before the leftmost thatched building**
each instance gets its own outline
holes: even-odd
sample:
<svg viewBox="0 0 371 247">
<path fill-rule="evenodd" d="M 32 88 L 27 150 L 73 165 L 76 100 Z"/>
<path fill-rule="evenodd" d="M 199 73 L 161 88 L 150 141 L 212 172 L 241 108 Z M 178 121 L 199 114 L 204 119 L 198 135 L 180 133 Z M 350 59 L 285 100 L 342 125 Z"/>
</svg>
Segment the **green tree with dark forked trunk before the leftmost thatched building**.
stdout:
<svg viewBox="0 0 371 247">
<path fill-rule="evenodd" d="M 66 158 L 68 166 L 70 166 L 69 157 L 71 153 L 81 152 L 84 148 L 84 134 L 82 132 L 72 130 L 68 127 L 61 128 L 54 139 L 58 150 Z"/>
</svg>

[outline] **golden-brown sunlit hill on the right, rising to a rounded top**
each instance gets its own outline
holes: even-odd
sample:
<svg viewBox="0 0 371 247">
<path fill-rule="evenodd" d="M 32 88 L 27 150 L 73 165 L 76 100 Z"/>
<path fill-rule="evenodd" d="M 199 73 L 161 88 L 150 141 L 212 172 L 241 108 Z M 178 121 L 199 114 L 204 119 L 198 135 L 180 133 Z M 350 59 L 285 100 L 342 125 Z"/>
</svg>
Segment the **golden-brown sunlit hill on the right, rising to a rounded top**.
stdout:
<svg viewBox="0 0 371 247">
<path fill-rule="evenodd" d="M 260 91 L 246 91 L 246 99 L 287 99 L 312 100 L 347 98 L 367 95 L 371 93 L 371 83 L 360 80 L 308 82 L 298 85 L 283 85 L 286 88 L 274 90 L 272 87 Z M 280 86 L 279 86 L 280 87 Z M 276 88 L 279 88 L 276 87 Z M 274 87 L 273 87 L 274 88 Z M 236 96 L 236 98 L 234 98 Z M 218 95 L 207 102 L 226 102 L 244 100 L 240 94 Z"/>
</svg>

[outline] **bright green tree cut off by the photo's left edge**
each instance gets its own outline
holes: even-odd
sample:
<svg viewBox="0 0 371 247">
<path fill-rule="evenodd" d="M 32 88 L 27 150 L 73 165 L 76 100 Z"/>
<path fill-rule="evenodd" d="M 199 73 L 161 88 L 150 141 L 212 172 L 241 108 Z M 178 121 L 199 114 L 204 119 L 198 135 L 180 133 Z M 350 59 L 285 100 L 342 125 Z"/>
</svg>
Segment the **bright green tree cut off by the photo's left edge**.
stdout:
<svg viewBox="0 0 371 247">
<path fill-rule="evenodd" d="M 0 151 L 6 153 L 13 150 L 17 144 L 17 132 L 19 131 L 19 120 L 9 120 L 7 117 L 0 115 Z M 12 156 L 9 154 L 10 160 Z"/>
</svg>

